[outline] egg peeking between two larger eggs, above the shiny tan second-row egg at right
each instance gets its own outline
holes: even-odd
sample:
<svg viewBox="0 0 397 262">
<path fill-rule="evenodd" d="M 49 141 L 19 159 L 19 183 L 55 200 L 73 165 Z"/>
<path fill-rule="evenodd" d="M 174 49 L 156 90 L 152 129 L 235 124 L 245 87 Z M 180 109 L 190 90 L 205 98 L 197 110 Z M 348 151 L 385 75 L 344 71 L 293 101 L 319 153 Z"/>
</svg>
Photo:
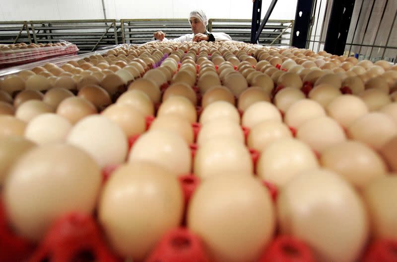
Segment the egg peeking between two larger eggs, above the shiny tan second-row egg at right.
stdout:
<svg viewBox="0 0 397 262">
<path fill-rule="evenodd" d="M 326 106 L 327 114 L 342 127 L 347 128 L 354 120 L 368 113 L 364 101 L 350 94 L 335 97 Z"/>
</svg>

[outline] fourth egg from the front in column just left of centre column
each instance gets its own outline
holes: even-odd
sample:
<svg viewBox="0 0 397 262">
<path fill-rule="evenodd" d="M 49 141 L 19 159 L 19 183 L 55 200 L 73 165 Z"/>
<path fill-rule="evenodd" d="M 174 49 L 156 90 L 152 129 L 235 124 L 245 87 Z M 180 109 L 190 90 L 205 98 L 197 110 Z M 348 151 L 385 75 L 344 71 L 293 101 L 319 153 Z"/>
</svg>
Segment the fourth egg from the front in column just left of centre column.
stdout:
<svg viewBox="0 0 397 262">
<path fill-rule="evenodd" d="M 164 101 L 158 111 L 157 116 L 175 114 L 178 115 L 190 123 L 194 123 L 197 120 L 197 111 L 192 102 L 184 96 L 171 96 Z"/>
</svg>

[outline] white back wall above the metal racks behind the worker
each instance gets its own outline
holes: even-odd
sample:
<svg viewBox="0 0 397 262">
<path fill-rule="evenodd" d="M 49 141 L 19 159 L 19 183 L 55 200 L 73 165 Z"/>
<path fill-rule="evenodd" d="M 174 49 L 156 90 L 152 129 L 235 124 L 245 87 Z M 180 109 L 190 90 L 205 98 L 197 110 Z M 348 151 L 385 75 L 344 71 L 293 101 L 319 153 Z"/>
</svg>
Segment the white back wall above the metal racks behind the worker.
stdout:
<svg viewBox="0 0 397 262">
<path fill-rule="evenodd" d="M 108 19 L 188 18 L 203 9 L 209 18 L 251 19 L 252 0 L 104 0 Z M 262 0 L 262 17 L 271 0 Z M 297 0 L 278 0 L 270 19 L 294 19 Z M 0 21 L 103 19 L 101 0 L 0 0 Z"/>
</svg>

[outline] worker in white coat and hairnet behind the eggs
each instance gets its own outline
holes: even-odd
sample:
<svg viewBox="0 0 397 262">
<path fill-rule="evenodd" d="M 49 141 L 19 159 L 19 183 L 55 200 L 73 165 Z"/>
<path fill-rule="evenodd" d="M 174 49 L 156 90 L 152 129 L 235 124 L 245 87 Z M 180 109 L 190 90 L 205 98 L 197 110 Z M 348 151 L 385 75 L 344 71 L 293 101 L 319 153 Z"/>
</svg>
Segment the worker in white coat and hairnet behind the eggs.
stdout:
<svg viewBox="0 0 397 262">
<path fill-rule="evenodd" d="M 231 41 L 232 38 L 225 33 L 210 33 L 207 31 L 206 26 L 208 25 L 208 18 L 205 15 L 203 10 L 194 10 L 190 12 L 189 15 L 189 23 L 192 27 L 192 34 L 186 34 L 180 36 L 175 39 L 167 39 L 165 36 L 166 34 L 162 31 L 157 31 L 153 34 L 152 40 L 160 40 L 160 41 L 178 41 L 178 42 L 185 42 L 185 41 Z"/>
</svg>

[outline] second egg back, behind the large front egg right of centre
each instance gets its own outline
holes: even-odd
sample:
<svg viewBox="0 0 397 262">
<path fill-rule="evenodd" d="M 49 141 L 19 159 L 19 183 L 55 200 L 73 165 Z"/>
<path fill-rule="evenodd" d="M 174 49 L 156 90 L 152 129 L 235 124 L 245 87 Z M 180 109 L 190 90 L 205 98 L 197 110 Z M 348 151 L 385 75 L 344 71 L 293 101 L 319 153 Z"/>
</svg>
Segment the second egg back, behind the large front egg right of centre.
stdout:
<svg viewBox="0 0 397 262">
<path fill-rule="evenodd" d="M 317 168 L 316 156 L 305 143 L 282 137 L 269 143 L 257 163 L 257 174 L 268 182 L 283 187 L 302 171 Z"/>
</svg>

